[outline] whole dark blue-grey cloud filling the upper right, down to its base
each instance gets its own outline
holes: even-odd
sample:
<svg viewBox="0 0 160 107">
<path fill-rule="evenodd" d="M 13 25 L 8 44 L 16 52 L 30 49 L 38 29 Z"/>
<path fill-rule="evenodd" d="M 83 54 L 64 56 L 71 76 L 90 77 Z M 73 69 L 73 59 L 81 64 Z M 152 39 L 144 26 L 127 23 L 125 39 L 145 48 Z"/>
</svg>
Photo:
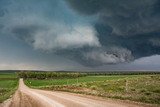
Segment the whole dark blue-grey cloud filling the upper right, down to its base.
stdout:
<svg viewBox="0 0 160 107">
<path fill-rule="evenodd" d="M 104 47 L 123 47 L 135 59 L 160 54 L 160 46 L 151 39 L 160 38 L 159 0 L 67 0 L 84 16 L 98 16 L 95 23 Z M 81 4 L 81 5 L 79 5 Z"/>
</svg>

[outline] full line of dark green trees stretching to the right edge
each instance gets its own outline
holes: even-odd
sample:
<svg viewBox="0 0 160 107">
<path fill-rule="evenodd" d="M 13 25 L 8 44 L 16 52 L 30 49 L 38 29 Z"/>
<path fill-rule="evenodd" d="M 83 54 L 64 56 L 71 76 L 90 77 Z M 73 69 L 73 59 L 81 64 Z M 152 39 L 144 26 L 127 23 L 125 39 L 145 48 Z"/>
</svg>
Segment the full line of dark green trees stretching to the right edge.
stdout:
<svg viewBox="0 0 160 107">
<path fill-rule="evenodd" d="M 98 75 L 152 75 L 152 74 L 160 74 L 160 72 L 138 72 L 138 71 L 130 71 L 130 72 L 47 72 L 47 71 L 21 71 L 17 72 L 20 78 L 32 78 L 32 79 L 59 79 L 59 78 L 78 78 L 83 76 L 98 76 Z"/>
</svg>

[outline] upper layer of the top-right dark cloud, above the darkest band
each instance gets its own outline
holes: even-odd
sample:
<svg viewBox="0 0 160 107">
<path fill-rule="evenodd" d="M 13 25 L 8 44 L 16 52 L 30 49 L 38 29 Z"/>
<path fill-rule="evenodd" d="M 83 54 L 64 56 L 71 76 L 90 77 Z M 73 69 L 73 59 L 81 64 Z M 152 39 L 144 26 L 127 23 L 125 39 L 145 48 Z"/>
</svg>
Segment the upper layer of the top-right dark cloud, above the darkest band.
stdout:
<svg viewBox="0 0 160 107">
<path fill-rule="evenodd" d="M 99 17 L 113 35 L 132 36 L 160 30 L 158 0 L 67 0 L 73 9 Z M 81 5 L 79 5 L 81 4 Z"/>
</svg>

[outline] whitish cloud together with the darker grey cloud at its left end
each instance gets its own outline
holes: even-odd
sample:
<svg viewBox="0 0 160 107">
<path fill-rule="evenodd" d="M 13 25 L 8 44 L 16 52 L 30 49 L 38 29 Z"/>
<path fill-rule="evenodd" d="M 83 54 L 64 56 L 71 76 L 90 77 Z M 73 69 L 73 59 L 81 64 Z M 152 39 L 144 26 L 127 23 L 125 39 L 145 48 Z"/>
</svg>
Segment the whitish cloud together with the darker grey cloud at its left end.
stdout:
<svg viewBox="0 0 160 107">
<path fill-rule="evenodd" d="M 97 32 L 89 25 L 73 25 L 43 22 L 37 25 L 36 21 L 28 21 L 27 24 L 12 26 L 14 36 L 26 41 L 35 49 L 44 51 L 56 51 L 62 49 L 74 49 L 88 47 L 100 47 Z M 39 21 L 42 22 L 42 21 Z M 30 24 L 29 24 L 30 23 Z"/>
</svg>

